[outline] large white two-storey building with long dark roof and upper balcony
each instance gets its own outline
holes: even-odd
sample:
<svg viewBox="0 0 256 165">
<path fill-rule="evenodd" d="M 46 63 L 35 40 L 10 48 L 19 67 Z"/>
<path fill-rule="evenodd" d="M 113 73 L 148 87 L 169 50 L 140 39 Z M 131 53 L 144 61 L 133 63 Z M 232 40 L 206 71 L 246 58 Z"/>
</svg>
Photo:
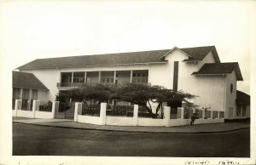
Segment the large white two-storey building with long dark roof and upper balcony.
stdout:
<svg viewBox="0 0 256 165">
<path fill-rule="evenodd" d="M 224 111 L 225 118 L 236 116 L 236 82 L 242 81 L 238 63 L 221 63 L 214 46 L 38 59 L 17 69 L 49 88 L 44 100 L 90 83 L 150 83 L 195 94 L 195 105 Z"/>
</svg>

